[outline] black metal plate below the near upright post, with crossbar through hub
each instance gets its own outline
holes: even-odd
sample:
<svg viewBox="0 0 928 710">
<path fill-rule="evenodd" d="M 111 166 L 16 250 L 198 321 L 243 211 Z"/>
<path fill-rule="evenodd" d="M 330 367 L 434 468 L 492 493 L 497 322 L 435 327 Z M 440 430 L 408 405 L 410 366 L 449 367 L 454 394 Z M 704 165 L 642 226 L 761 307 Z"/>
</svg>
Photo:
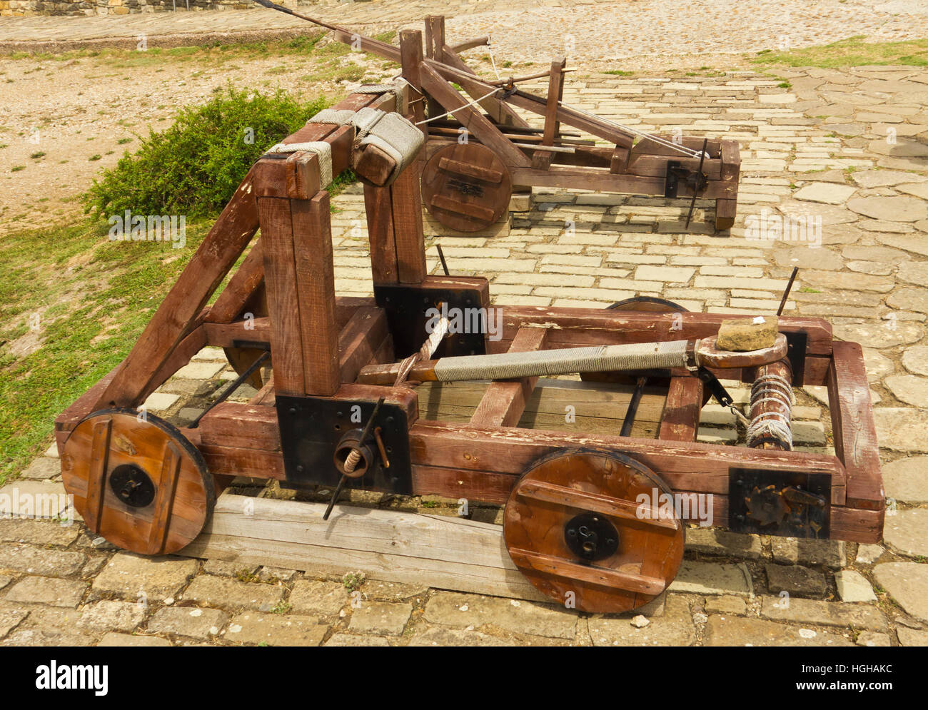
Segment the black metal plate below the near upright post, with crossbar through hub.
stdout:
<svg viewBox="0 0 928 710">
<path fill-rule="evenodd" d="M 280 448 L 287 473 L 287 480 L 280 485 L 285 488 L 335 487 L 342 477 L 332 461 L 335 446 L 344 433 L 364 427 L 375 406 L 375 402 L 277 394 Z M 352 487 L 411 496 L 406 411 L 385 402 L 374 426 L 380 427 L 390 468 L 384 469 L 377 457 L 377 463 L 364 476 L 352 479 Z M 376 445 L 373 448 L 376 450 Z"/>
</svg>

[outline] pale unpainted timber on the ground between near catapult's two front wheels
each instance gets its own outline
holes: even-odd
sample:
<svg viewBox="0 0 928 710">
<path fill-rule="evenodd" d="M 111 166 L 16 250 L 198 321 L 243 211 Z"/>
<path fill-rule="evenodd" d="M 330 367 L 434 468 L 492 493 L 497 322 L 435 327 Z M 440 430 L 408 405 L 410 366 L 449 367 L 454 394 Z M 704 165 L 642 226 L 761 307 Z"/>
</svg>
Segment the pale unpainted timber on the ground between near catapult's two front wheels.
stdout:
<svg viewBox="0 0 928 710">
<path fill-rule="evenodd" d="M 251 515 L 241 510 L 249 505 Z M 251 509 L 253 506 L 253 509 Z M 315 573 L 546 601 L 509 560 L 490 523 L 223 494 L 204 531 L 180 554 Z"/>
</svg>

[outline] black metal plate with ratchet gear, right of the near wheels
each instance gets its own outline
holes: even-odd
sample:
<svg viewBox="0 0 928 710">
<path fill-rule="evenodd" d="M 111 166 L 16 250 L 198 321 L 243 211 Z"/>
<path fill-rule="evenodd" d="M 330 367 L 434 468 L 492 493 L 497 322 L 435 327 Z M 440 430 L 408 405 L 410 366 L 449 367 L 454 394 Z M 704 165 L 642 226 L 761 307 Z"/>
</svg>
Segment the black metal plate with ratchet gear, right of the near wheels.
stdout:
<svg viewBox="0 0 928 710">
<path fill-rule="evenodd" d="M 831 475 L 729 469 L 728 529 L 733 533 L 828 537 Z"/>
</svg>

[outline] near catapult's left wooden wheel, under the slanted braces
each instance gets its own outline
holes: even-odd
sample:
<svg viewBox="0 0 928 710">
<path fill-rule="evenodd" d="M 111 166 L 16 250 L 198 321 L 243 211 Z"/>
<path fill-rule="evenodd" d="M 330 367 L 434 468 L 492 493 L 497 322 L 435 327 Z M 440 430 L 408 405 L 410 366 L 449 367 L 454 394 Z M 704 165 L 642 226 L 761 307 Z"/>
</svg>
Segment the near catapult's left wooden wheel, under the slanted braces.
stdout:
<svg viewBox="0 0 928 710">
<path fill-rule="evenodd" d="M 216 499 L 197 448 L 135 409 L 104 409 L 78 424 L 61 453 L 61 474 L 91 532 L 146 555 L 185 547 Z"/>
</svg>

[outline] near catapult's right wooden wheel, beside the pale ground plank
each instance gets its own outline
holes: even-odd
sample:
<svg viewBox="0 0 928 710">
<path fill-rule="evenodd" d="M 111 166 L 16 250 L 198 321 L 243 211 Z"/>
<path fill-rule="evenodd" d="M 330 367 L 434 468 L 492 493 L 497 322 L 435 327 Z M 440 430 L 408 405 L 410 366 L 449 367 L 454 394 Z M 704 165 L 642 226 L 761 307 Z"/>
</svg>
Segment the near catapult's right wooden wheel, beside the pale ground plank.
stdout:
<svg viewBox="0 0 928 710">
<path fill-rule="evenodd" d="M 665 504 L 673 499 L 633 458 L 557 452 L 535 462 L 512 489 L 506 548 L 548 597 L 583 612 L 627 612 L 653 600 L 677 575 L 684 533 Z"/>
</svg>

